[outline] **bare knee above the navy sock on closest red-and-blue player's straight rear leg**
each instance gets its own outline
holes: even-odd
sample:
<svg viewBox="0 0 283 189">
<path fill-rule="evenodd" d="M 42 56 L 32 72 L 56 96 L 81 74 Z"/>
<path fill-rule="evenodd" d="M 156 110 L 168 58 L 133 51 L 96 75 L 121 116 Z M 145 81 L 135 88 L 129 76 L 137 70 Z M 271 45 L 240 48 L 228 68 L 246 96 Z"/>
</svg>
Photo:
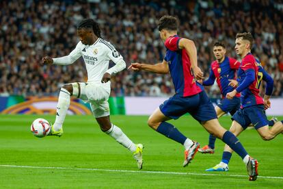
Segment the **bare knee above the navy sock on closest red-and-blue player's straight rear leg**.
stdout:
<svg viewBox="0 0 283 189">
<path fill-rule="evenodd" d="M 211 119 L 209 121 L 205 121 L 202 123 L 202 126 L 208 133 L 213 134 L 217 138 L 222 138 L 225 132 L 227 131 L 222 127 L 217 118 Z"/>
</svg>

